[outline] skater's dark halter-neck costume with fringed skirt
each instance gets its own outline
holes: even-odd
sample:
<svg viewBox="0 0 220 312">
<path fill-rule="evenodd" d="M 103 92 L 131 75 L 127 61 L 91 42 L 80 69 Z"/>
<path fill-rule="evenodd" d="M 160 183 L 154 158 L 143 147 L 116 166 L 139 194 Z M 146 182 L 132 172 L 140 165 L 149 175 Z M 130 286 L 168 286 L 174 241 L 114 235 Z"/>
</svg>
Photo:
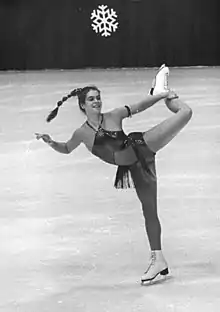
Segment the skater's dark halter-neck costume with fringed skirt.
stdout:
<svg viewBox="0 0 220 312">
<path fill-rule="evenodd" d="M 116 188 L 131 187 L 132 182 L 136 187 L 141 180 L 144 184 L 156 180 L 155 153 L 146 145 L 143 133 L 132 132 L 126 135 L 123 130 L 105 130 L 102 122 L 98 130 L 95 130 L 88 121 L 86 123 L 96 131 L 92 153 L 103 161 L 118 166 Z M 129 172 L 132 181 L 129 179 Z"/>
</svg>

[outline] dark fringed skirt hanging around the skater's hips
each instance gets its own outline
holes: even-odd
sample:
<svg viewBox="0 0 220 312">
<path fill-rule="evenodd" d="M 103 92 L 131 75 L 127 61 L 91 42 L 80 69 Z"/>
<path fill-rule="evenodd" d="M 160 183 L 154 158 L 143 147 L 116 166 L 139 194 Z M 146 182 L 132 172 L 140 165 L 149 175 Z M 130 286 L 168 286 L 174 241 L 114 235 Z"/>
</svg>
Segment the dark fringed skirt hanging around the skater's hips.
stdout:
<svg viewBox="0 0 220 312">
<path fill-rule="evenodd" d="M 128 146 L 132 146 L 136 155 L 136 161 L 131 165 L 118 166 L 114 183 L 115 188 L 135 187 L 138 190 L 146 190 L 146 188 L 156 185 L 156 153 L 151 151 L 145 143 L 143 133 L 130 133 L 125 142 L 125 148 Z"/>
</svg>

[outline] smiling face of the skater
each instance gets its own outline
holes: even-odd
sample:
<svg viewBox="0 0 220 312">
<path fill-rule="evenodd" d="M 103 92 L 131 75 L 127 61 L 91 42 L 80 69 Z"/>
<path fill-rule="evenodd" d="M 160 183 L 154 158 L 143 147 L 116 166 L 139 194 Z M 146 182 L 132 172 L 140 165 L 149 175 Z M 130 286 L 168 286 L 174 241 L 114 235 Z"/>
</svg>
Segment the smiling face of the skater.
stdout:
<svg viewBox="0 0 220 312">
<path fill-rule="evenodd" d="M 86 95 L 83 107 L 85 108 L 86 114 L 100 113 L 102 109 L 100 93 L 97 90 L 90 90 Z"/>
</svg>

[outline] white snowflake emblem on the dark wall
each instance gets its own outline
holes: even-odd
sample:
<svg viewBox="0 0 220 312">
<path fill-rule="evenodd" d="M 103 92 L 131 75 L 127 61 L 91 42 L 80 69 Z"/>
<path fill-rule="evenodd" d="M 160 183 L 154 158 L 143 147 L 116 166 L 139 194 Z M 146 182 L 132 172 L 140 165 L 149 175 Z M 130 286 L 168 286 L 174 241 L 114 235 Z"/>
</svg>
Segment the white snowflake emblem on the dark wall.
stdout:
<svg viewBox="0 0 220 312">
<path fill-rule="evenodd" d="M 91 20 L 93 30 L 105 37 L 111 36 L 118 28 L 117 14 L 107 5 L 99 5 L 97 10 L 93 10 Z"/>
</svg>

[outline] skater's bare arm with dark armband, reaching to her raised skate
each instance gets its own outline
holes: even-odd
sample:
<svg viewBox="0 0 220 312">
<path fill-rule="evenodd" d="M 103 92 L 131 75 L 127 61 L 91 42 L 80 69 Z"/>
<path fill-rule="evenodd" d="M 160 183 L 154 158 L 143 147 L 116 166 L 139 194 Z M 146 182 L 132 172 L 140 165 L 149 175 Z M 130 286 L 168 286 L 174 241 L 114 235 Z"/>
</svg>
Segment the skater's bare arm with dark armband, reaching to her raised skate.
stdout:
<svg viewBox="0 0 220 312">
<path fill-rule="evenodd" d="M 128 105 L 131 110 L 131 114 L 134 115 L 143 112 L 145 109 L 153 106 L 155 103 L 166 98 L 168 95 L 169 92 L 162 92 L 157 95 L 148 95 L 144 100 L 136 104 Z M 112 113 L 120 116 L 122 119 L 128 117 L 128 110 L 124 106 L 114 109 Z"/>
</svg>

